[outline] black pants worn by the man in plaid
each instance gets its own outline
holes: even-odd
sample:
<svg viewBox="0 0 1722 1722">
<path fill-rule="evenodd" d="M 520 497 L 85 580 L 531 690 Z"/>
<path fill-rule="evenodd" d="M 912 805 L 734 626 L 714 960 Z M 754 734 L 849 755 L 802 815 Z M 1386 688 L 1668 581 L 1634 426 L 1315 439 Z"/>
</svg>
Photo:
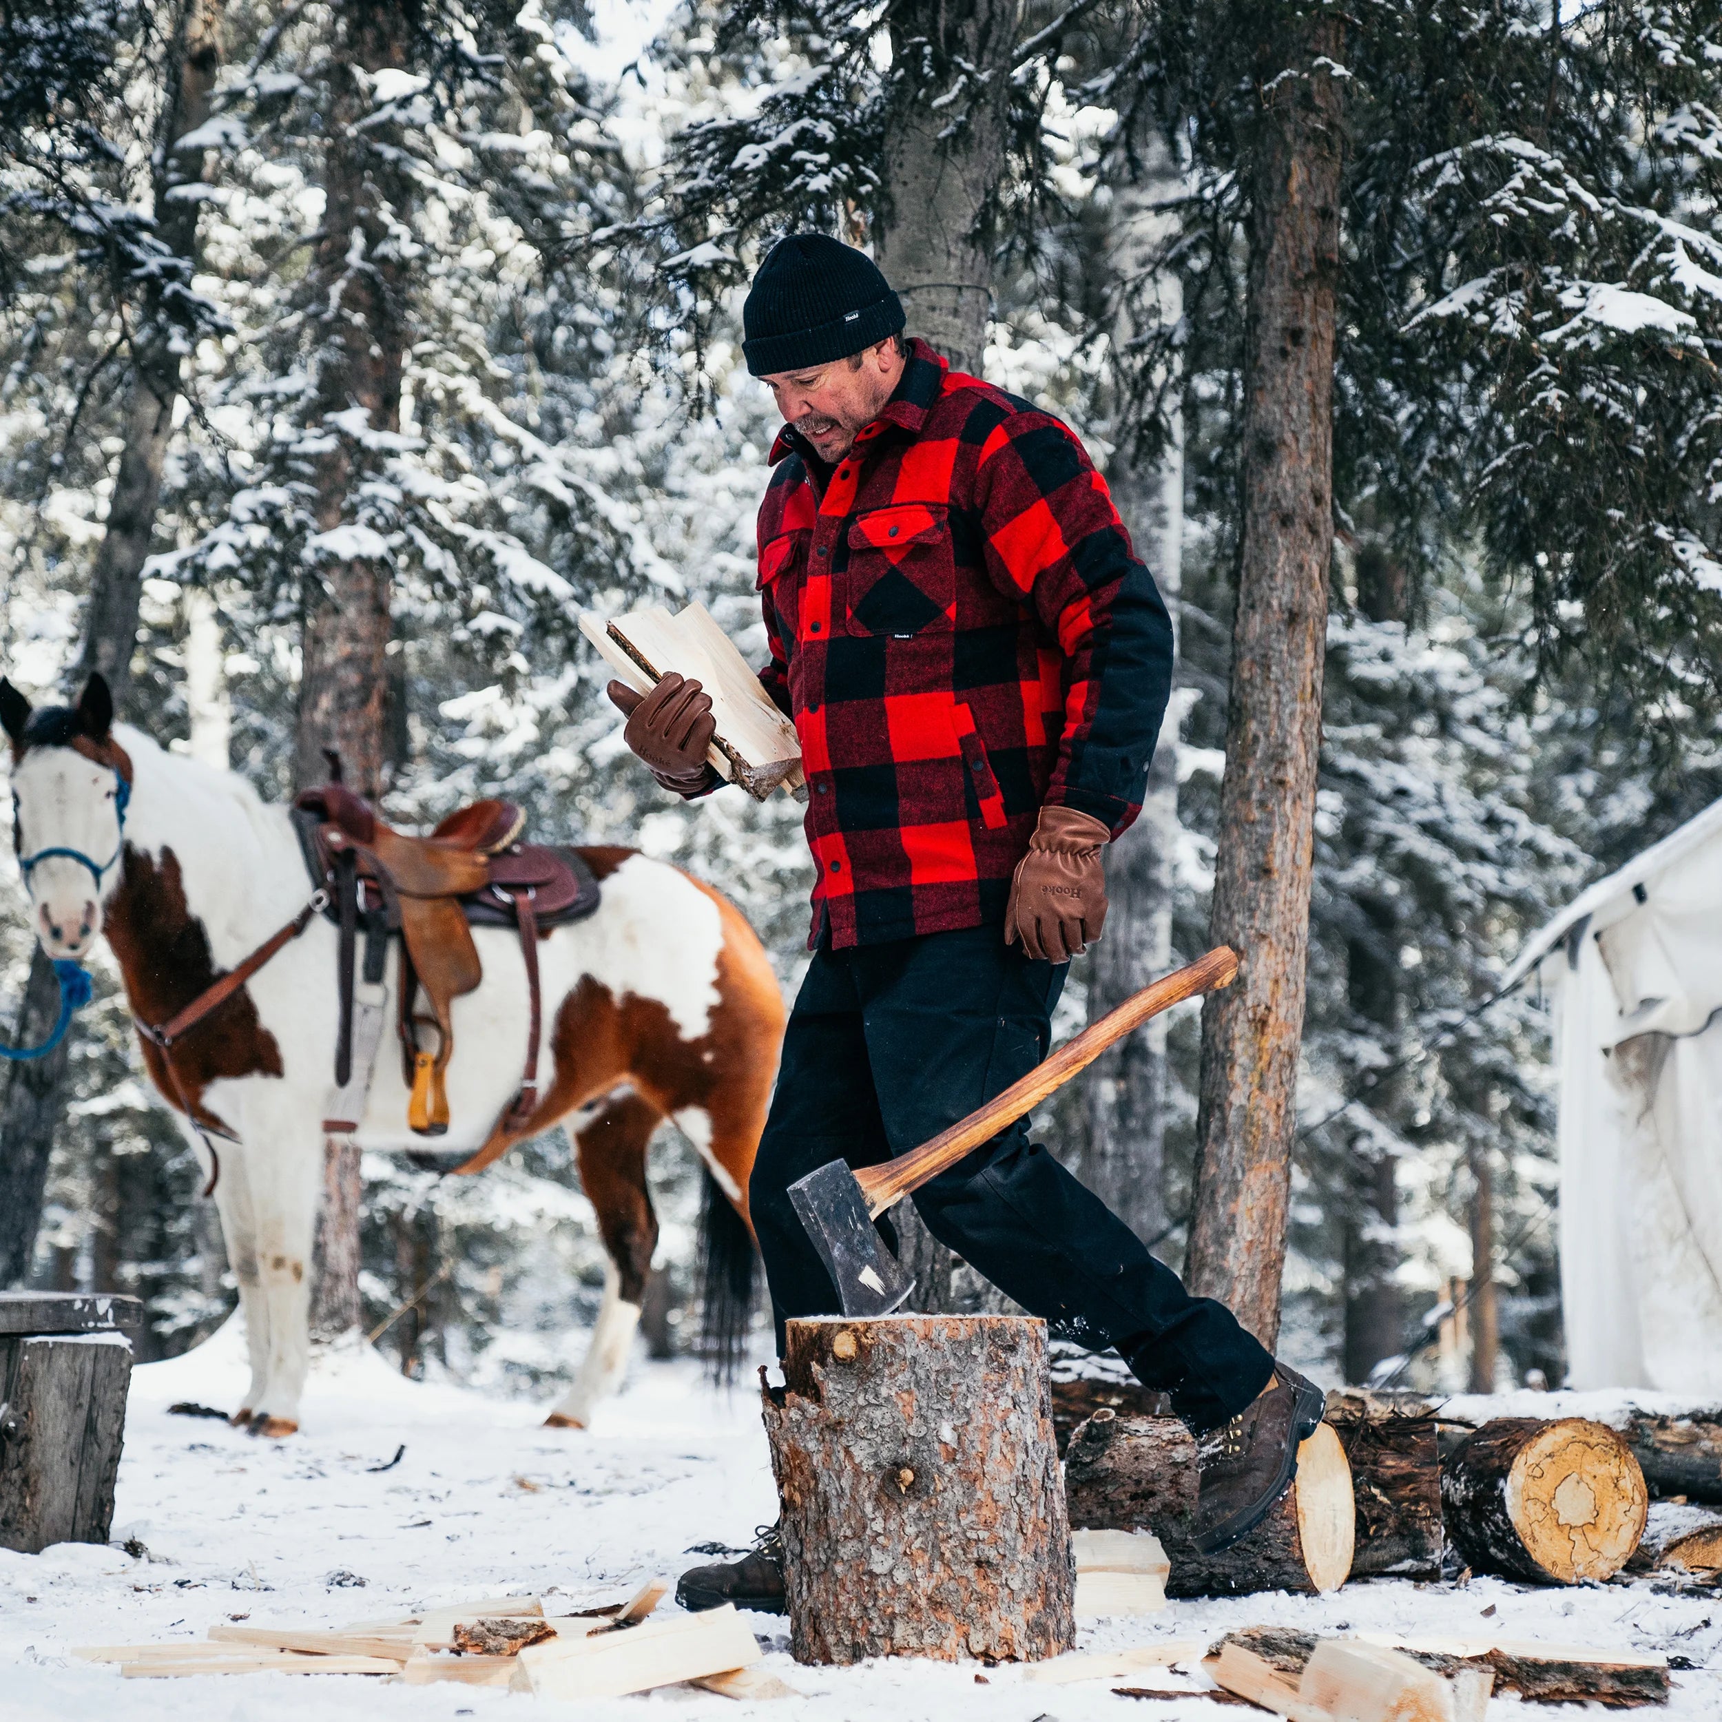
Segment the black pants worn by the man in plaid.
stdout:
<svg viewBox="0 0 1722 1722">
<path fill-rule="evenodd" d="M 780 1355 L 785 1319 L 842 1314 L 789 1185 L 827 1161 L 875 1166 L 920 1147 L 1033 1069 L 1064 973 L 1007 947 L 997 926 L 815 952 L 747 1192 Z M 1056 1331 L 1114 1347 L 1197 1429 L 1267 1384 L 1269 1353 L 1030 1142 L 1026 1118 L 913 1200 L 963 1261 Z"/>
</svg>

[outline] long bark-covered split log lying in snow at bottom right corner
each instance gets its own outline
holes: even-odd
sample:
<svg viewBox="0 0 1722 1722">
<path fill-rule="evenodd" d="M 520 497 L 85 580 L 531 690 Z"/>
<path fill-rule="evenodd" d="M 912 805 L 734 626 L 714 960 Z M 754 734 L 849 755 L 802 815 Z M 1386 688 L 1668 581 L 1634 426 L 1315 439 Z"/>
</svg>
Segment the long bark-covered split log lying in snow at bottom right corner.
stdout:
<svg viewBox="0 0 1722 1722">
<path fill-rule="evenodd" d="M 1669 1701 L 1669 1663 L 1632 1650 L 1588 1650 L 1507 1638 L 1395 1638 L 1364 1632 L 1362 1639 L 1403 1651 L 1426 1669 L 1455 1677 L 1465 1669 L 1495 1677 L 1495 1691 L 1517 1693 L 1527 1703 L 1595 1701 L 1614 1708 Z M 1283 1677 L 1300 1679 L 1316 1650 L 1312 1632 L 1255 1626 L 1223 1641 L 1261 1658 Z"/>
</svg>

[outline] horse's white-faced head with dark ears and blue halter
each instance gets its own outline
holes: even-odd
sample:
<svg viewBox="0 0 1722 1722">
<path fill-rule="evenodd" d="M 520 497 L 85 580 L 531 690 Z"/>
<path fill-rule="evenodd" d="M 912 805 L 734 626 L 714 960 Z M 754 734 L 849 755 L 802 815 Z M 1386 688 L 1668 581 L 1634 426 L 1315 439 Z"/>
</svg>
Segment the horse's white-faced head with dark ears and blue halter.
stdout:
<svg viewBox="0 0 1722 1722">
<path fill-rule="evenodd" d="M 88 956 L 119 878 L 131 796 L 131 759 L 110 734 L 114 697 L 91 675 L 76 706 L 34 711 L 0 677 L 0 723 L 12 739 L 12 844 L 36 937 L 50 957 Z"/>
</svg>

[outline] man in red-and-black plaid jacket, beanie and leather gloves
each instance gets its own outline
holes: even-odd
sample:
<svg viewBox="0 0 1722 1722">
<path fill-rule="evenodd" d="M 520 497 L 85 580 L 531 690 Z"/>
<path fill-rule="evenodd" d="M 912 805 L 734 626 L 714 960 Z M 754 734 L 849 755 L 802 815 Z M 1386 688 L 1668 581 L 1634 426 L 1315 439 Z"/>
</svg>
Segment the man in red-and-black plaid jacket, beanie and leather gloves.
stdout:
<svg viewBox="0 0 1722 1722">
<path fill-rule="evenodd" d="M 818 868 L 749 1185 L 780 1350 L 787 1317 L 840 1314 L 789 1185 L 918 1147 L 1045 1057 L 1171 687 L 1166 606 L 1081 444 L 902 327 L 871 260 L 821 234 L 784 239 L 744 310 L 747 369 L 784 413 L 759 510 L 761 682 L 801 737 Z M 697 682 L 610 694 L 665 789 L 715 787 Z M 1266 1515 L 1319 1388 L 1192 1298 L 1026 1119 L 914 1205 L 1025 1309 L 1171 1395 L 1202 1436 L 1205 1550 Z M 678 1596 L 780 1610 L 773 1539 L 684 1574 Z"/>
</svg>

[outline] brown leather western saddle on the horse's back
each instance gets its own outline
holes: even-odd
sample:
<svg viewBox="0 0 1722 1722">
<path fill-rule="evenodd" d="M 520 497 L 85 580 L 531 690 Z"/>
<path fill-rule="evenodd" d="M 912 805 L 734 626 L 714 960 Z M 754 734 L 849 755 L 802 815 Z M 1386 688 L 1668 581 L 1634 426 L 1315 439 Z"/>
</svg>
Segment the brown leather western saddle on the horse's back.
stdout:
<svg viewBox="0 0 1722 1722">
<path fill-rule="evenodd" d="M 401 938 L 396 1026 L 412 1087 L 406 1121 L 420 1137 L 448 1130 L 448 1061 L 455 1052 L 449 1007 L 484 978 L 474 926 L 515 926 L 530 992 L 525 1076 L 503 1112 L 492 1142 L 525 1124 L 537 1107 L 537 1056 L 542 1030 L 537 942 L 551 926 L 598 907 L 598 880 L 573 849 L 518 842 L 525 815 L 508 801 L 475 801 L 451 813 L 429 837 L 391 830 L 362 796 L 336 778 L 293 802 L 293 821 L 312 878 L 329 892 L 324 911 L 341 930 L 341 997 L 336 1087 L 353 1075 L 353 964 L 365 930 L 363 978 L 382 982 L 387 938 Z M 429 1016 L 418 1011 L 424 994 Z M 425 1035 L 436 1031 L 427 1050 Z M 369 1062 L 369 1061 L 367 1061 Z M 343 1119 L 329 1128 L 356 1128 Z M 489 1143 L 487 1143 L 489 1147 Z"/>
</svg>

